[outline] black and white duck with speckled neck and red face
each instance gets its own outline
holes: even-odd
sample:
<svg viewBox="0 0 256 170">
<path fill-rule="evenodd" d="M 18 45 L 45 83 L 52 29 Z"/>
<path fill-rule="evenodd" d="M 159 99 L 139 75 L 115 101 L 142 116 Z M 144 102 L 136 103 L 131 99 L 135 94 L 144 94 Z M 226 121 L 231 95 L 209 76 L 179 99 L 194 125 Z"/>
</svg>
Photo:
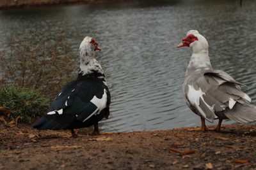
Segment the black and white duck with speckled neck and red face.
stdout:
<svg viewBox="0 0 256 170">
<path fill-rule="evenodd" d="M 98 122 L 108 118 L 111 102 L 105 75 L 99 62 L 94 58 L 95 51 L 101 50 L 95 39 L 87 36 L 80 47 L 80 69 L 77 79 L 60 90 L 51 104 L 48 113 L 33 127 L 39 130 L 74 129 L 94 125 L 93 134 L 99 134 Z"/>
</svg>

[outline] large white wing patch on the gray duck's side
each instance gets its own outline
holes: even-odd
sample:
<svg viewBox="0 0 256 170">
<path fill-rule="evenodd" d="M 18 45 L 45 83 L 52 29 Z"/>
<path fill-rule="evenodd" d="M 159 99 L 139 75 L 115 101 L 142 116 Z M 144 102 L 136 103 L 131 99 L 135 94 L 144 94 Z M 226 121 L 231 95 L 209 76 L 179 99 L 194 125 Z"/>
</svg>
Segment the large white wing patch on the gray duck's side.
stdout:
<svg viewBox="0 0 256 170">
<path fill-rule="evenodd" d="M 199 90 L 194 89 L 194 87 L 192 85 L 188 85 L 189 89 L 188 89 L 188 100 L 191 104 L 193 104 L 194 106 L 196 106 L 197 110 L 202 114 L 203 117 L 207 118 L 204 111 L 199 107 L 200 105 L 200 99 L 202 99 L 202 101 L 205 103 L 204 101 L 204 97 L 203 95 L 205 95 L 204 92 L 202 92 L 202 90 L 199 88 Z M 205 105 L 209 108 L 209 110 L 212 111 L 212 113 L 214 114 L 214 106 L 209 106 L 209 104 L 205 103 Z M 214 114 L 214 118 L 218 118 L 215 114 Z"/>
</svg>

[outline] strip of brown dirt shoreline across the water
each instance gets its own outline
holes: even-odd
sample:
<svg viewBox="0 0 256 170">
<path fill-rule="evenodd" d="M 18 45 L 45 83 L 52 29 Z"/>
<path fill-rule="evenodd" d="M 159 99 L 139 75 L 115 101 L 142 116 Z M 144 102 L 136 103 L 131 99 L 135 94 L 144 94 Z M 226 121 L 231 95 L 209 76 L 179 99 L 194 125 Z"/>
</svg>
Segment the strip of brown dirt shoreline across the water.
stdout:
<svg viewBox="0 0 256 170">
<path fill-rule="evenodd" d="M 123 2 L 134 0 L 1 0 L 0 10 L 12 10 L 20 8 L 31 8 L 41 6 L 63 6 L 75 4 L 97 4 L 110 2 Z"/>
</svg>

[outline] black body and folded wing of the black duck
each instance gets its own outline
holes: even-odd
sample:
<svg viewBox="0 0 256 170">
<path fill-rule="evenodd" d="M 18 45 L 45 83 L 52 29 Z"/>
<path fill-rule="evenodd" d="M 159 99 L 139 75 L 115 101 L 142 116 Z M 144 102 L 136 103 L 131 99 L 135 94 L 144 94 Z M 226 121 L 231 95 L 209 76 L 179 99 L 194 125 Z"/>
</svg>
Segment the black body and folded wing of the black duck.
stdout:
<svg viewBox="0 0 256 170">
<path fill-rule="evenodd" d="M 36 129 L 75 129 L 89 127 L 109 115 L 108 87 L 98 79 L 71 81 L 60 91 L 47 115 L 40 118 Z"/>
</svg>

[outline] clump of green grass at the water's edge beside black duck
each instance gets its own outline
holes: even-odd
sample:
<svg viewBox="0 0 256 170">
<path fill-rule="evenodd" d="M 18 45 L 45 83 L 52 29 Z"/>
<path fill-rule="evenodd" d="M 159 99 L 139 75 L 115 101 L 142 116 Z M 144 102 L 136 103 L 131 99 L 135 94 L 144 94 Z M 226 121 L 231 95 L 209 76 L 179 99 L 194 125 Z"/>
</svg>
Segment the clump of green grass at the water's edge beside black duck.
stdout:
<svg viewBox="0 0 256 170">
<path fill-rule="evenodd" d="M 0 106 L 11 110 L 12 118 L 22 117 L 20 122 L 31 124 L 37 117 L 45 115 L 49 104 L 49 99 L 36 90 L 17 87 L 0 88 Z"/>
</svg>

